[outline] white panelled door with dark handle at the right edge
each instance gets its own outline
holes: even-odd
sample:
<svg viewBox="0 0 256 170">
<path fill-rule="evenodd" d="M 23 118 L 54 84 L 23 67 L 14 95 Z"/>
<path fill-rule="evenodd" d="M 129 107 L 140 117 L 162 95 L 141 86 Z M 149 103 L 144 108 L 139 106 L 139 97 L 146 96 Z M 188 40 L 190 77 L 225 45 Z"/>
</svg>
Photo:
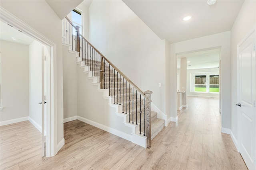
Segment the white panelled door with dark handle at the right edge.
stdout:
<svg viewBox="0 0 256 170">
<path fill-rule="evenodd" d="M 238 45 L 238 149 L 249 170 L 256 169 L 255 27 Z"/>
</svg>

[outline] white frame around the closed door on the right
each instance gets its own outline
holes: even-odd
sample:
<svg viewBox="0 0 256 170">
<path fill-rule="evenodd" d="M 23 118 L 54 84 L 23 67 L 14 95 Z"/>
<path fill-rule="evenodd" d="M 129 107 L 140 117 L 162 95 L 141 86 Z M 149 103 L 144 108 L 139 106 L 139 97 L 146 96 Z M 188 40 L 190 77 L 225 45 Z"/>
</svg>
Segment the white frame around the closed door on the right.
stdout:
<svg viewBox="0 0 256 170">
<path fill-rule="evenodd" d="M 239 62 L 240 61 L 240 55 L 239 55 L 239 47 L 242 45 L 242 43 L 244 43 L 244 41 L 246 41 L 246 39 L 248 37 L 250 37 L 250 35 L 256 31 L 256 24 L 253 25 L 253 27 L 250 29 L 250 31 L 244 36 L 244 38 L 238 43 L 237 45 L 237 102 L 236 103 L 239 103 L 240 102 L 240 93 L 239 93 L 239 89 L 240 89 L 240 67 L 241 67 L 241 63 Z M 255 33 L 255 39 L 256 39 L 256 33 Z M 256 81 L 256 80 L 255 80 Z M 241 150 L 241 115 L 239 114 L 239 107 L 237 107 L 237 132 L 238 132 L 238 135 L 237 135 L 237 150 L 238 152 L 240 152 Z M 256 122 L 256 118 L 254 120 Z M 256 135 L 256 134 L 255 134 Z"/>
</svg>

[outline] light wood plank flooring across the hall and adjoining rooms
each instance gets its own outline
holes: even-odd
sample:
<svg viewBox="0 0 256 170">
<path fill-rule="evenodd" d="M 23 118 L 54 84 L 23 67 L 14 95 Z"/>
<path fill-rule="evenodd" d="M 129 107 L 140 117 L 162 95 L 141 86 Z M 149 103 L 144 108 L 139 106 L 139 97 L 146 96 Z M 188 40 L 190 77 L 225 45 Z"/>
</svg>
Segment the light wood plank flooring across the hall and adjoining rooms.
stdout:
<svg viewBox="0 0 256 170">
<path fill-rule="evenodd" d="M 178 113 L 144 149 L 75 120 L 64 123 L 64 147 L 41 155 L 40 132 L 28 121 L 0 127 L 0 169 L 26 170 L 246 170 L 230 135 L 220 132 L 218 99 L 188 97 Z"/>
</svg>

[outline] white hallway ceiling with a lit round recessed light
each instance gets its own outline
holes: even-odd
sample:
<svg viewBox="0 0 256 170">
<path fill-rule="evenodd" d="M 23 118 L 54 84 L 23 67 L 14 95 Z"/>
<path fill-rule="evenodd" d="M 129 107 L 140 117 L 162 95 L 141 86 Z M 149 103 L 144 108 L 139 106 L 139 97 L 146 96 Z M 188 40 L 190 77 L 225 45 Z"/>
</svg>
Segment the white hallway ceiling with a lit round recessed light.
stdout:
<svg viewBox="0 0 256 170">
<path fill-rule="evenodd" d="M 160 39 L 170 43 L 230 31 L 243 0 L 122 0 Z M 192 16 L 183 21 L 185 16 Z"/>
</svg>

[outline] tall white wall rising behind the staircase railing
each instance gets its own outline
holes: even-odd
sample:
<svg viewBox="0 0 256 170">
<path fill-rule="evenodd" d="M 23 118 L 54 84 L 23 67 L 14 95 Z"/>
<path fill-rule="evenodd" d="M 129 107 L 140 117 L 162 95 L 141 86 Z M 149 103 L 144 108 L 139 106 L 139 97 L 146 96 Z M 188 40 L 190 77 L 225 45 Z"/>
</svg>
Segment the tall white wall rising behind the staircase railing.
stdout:
<svg viewBox="0 0 256 170">
<path fill-rule="evenodd" d="M 124 2 L 92 1 L 89 41 L 142 91 L 151 90 L 154 105 L 168 114 L 170 97 L 166 100 L 169 95 L 166 89 L 170 88 L 170 82 L 166 84 L 165 61 L 170 61 L 170 55 L 166 57 L 170 50 L 165 48 L 167 42 L 148 28 Z M 162 83 L 162 87 L 158 87 L 158 83 Z"/>
</svg>

